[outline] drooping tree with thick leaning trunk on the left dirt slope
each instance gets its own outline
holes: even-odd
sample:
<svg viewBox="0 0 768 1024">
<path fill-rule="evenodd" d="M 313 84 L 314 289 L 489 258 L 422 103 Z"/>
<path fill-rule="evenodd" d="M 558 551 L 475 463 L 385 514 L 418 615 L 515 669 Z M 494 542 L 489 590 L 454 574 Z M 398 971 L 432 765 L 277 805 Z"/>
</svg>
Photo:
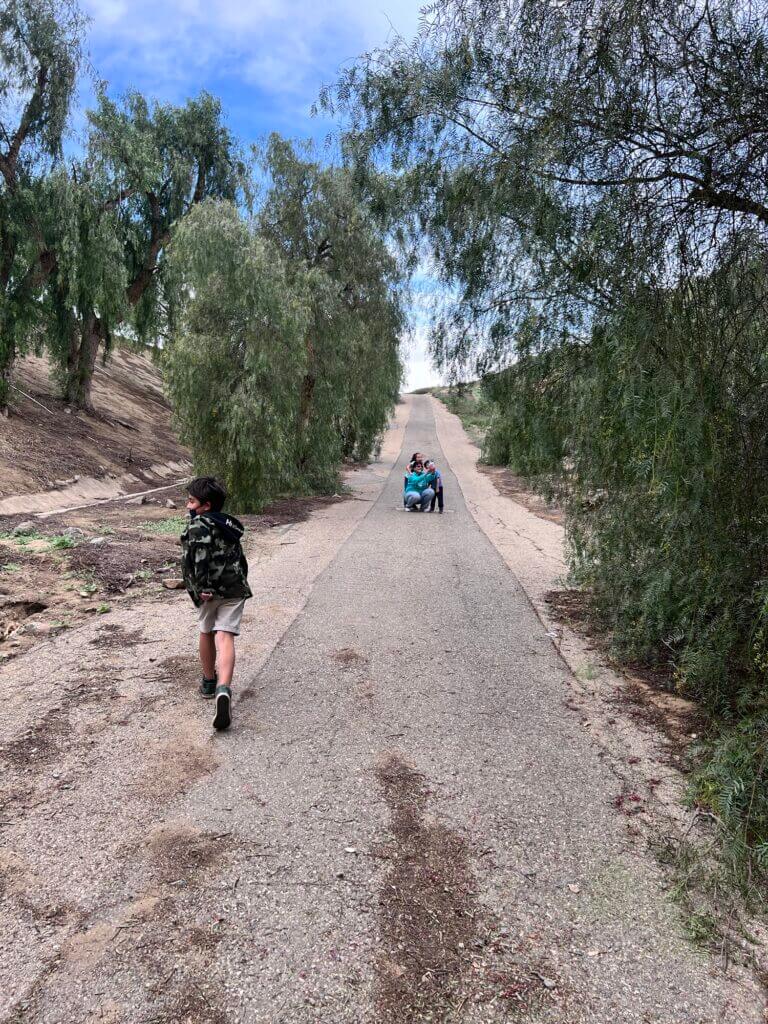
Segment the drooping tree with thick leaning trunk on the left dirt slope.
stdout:
<svg viewBox="0 0 768 1024">
<path fill-rule="evenodd" d="M 247 187 L 220 103 L 207 93 L 183 106 L 151 105 L 135 92 L 118 104 L 101 94 L 89 123 L 87 157 L 71 182 L 72 220 L 59 240 L 69 258 L 66 266 L 59 260 L 54 301 L 65 328 L 65 394 L 86 409 L 96 356 L 112 332 L 125 324 L 153 342 L 161 330 L 172 226 L 203 200 L 234 200 Z"/>
</svg>

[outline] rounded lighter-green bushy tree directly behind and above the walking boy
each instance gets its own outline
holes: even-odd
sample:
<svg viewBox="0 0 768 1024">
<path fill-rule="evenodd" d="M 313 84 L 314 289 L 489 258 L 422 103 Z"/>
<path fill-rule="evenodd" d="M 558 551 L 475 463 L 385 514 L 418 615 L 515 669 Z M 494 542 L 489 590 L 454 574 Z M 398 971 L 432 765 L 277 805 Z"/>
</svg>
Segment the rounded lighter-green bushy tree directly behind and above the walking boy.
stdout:
<svg viewBox="0 0 768 1024">
<path fill-rule="evenodd" d="M 174 417 L 196 469 L 256 509 L 296 485 L 307 296 L 229 203 L 200 204 L 173 236 L 180 308 L 163 367 Z"/>
</svg>

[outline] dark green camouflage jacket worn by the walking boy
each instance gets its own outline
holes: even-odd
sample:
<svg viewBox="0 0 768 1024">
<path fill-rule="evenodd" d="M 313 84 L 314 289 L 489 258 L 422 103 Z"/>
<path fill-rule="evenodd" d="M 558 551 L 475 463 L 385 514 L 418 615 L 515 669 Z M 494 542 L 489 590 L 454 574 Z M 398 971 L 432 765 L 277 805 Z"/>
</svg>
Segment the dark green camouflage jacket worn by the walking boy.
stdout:
<svg viewBox="0 0 768 1024">
<path fill-rule="evenodd" d="M 225 512 L 203 512 L 190 518 L 181 535 L 181 574 L 196 605 L 201 594 L 252 597 L 248 562 L 243 554 L 243 523 Z"/>
</svg>

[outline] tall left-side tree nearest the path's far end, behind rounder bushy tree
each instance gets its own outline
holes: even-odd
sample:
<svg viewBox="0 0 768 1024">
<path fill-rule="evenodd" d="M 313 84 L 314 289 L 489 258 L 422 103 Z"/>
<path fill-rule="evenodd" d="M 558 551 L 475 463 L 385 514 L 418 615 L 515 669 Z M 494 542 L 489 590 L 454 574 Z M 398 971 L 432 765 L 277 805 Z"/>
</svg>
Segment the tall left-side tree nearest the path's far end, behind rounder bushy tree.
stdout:
<svg viewBox="0 0 768 1024">
<path fill-rule="evenodd" d="M 276 135 L 262 162 L 269 187 L 259 228 L 311 297 L 296 463 L 335 474 L 358 442 L 370 446 L 396 399 L 402 274 L 347 170 L 323 168 Z"/>
</svg>

